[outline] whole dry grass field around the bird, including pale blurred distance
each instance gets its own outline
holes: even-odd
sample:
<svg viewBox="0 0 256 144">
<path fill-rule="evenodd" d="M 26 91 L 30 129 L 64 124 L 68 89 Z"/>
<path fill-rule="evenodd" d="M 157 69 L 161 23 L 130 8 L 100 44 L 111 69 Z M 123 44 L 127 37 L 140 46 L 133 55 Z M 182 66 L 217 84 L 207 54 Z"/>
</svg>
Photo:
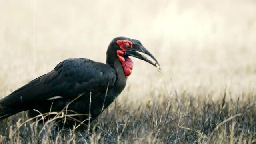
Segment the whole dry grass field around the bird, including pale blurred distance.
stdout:
<svg viewBox="0 0 256 144">
<path fill-rule="evenodd" d="M 0 98 L 66 58 L 105 62 L 117 36 L 140 40 L 162 68 L 133 58 L 89 132 L 22 112 L 0 122 L 1 143 L 256 142 L 255 0 L 0 0 L 0 14 Z"/>
</svg>

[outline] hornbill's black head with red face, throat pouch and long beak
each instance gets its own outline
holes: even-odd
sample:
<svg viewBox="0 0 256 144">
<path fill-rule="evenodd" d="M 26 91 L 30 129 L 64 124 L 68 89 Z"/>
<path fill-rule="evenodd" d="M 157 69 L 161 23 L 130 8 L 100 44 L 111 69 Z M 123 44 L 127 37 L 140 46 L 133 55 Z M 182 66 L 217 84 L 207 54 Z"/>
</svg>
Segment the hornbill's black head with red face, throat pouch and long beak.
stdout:
<svg viewBox="0 0 256 144">
<path fill-rule="evenodd" d="M 147 54 L 155 62 L 152 62 L 151 60 L 149 60 L 139 52 Z M 126 78 L 128 78 L 128 76 L 132 73 L 132 68 L 133 68 L 133 62 L 129 58 L 129 56 L 133 56 L 135 58 L 144 60 L 152 64 L 153 66 L 156 66 L 157 70 L 160 71 L 160 65 L 156 60 L 156 58 L 141 44 L 139 40 L 130 39 L 126 37 L 117 37 L 117 38 L 114 38 L 112 42 L 110 42 L 110 45 L 108 46 L 108 51 L 107 51 L 107 63 L 108 64 L 113 63 L 114 60 L 118 58 L 122 64 Z"/>
</svg>

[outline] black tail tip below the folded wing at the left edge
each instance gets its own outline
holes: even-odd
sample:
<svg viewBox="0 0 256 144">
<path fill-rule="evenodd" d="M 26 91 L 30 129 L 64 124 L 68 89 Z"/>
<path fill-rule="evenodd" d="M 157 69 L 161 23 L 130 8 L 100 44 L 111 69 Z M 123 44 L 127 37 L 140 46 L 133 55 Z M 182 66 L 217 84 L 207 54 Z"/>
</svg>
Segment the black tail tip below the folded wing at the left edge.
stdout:
<svg viewBox="0 0 256 144">
<path fill-rule="evenodd" d="M 23 111 L 20 108 L 16 107 L 5 107 L 0 105 L 0 121 L 8 118 L 9 116 L 12 116 L 14 114 L 17 114 L 18 112 Z"/>
</svg>

